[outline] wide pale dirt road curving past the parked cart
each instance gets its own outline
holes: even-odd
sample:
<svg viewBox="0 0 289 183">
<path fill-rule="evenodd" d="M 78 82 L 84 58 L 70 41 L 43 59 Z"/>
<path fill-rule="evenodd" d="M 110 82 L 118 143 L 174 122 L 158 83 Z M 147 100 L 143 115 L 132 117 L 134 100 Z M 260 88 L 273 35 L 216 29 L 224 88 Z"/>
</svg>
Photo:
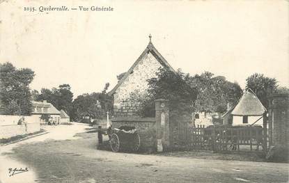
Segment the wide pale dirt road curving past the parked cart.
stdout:
<svg viewBox="0 0 289 183">
<path fill-rule="evenodd" d="M 49 129 L 49 134 L 15 145 L 6 155 L 33 168 L 35 175 L 29 182 L 288 182 L 288 164 L 96 150 L 95 132 L 74 137 L 87 128 L 61 125 Z"/>
</svg>

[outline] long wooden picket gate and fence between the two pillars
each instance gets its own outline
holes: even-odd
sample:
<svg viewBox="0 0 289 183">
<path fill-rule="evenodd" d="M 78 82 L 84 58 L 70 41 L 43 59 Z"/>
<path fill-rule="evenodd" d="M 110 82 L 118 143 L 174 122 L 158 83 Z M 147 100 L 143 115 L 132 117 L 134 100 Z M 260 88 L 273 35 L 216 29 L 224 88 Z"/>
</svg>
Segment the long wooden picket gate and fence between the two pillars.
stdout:
<svg viewBox="0 0 289 183">
<path fill-rule="evenodd" d="M 170 127 L 172 150 L 252 151 L 263 148 L 263 127 L 232 127 L 177 122 Z"/>
</svg>

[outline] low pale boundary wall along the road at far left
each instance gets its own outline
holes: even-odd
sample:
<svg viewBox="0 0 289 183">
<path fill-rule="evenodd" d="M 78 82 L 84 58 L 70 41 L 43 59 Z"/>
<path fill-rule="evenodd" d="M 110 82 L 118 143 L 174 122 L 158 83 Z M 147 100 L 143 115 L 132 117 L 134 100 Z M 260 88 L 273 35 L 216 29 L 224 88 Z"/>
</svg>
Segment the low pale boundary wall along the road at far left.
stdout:
<svg viewBox="0 0 289 183">
<path fill-rule="evenodd" d="M 17 125 L 20 118 L 24 118 L 24 121 L 22 125 Z M 40 131 L 40 121 L 35 116 L 0 115 L 0 139 L 38 131 Z"/>
</svg>

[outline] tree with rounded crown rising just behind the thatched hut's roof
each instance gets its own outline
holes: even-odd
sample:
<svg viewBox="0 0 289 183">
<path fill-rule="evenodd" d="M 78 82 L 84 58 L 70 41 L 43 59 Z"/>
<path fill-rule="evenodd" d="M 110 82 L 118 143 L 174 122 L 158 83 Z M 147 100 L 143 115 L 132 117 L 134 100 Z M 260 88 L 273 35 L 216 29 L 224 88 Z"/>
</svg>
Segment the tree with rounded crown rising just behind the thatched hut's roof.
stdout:
<svg viewBox="0 0 289 183">
<path fill-rule="evenodd" d="M 252 74 L 246 79 L 246 81 L 246 88 L 253 90 L 260 102 L 262 102 L 263 106 L 267 109 L 268 97 L 272 93 L 276 93 L 278 81 L 274 78 L 265 77 L 264 74 L 258 73 Z"/>
</svg>

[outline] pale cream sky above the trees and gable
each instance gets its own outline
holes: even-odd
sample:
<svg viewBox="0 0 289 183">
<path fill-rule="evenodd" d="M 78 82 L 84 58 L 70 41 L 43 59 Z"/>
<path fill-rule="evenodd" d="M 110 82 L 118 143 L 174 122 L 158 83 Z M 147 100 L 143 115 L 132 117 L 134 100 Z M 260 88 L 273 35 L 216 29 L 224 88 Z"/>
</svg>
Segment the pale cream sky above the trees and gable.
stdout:
<svg viewBox="0 0 289 183">
<path fill-rule="evenodd" d="M 1 2 L 1 1 L 0 1 Z M 25 12 L 33 6 L 111 6 L 112 12 Z M 237 81 L 254 72 L 289 87 L 288 1 L 3 1 L 0 62 L 30 67 L 31 88 L 112 89 L 153 44 L 175 69 Z"/>
</svg>

